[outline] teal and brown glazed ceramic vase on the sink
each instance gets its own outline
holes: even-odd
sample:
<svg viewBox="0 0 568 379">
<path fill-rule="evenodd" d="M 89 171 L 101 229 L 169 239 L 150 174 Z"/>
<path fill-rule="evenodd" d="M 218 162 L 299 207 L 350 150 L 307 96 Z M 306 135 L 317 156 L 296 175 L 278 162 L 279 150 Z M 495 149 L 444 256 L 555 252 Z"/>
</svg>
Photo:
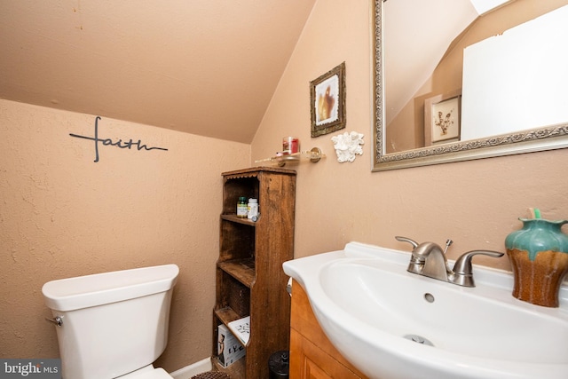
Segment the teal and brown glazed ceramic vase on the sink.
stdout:
<svg viewBox="0 0 568 379">
<path fill-rule="evenodd" d="M 523 228 L 505 239 L 513 269 L 513 296 L 525 302 L 558 306 L 558 291 L 568 272 L 568 235 L 562 225 L 568 220 L 519 218 Z"/>
</svg>

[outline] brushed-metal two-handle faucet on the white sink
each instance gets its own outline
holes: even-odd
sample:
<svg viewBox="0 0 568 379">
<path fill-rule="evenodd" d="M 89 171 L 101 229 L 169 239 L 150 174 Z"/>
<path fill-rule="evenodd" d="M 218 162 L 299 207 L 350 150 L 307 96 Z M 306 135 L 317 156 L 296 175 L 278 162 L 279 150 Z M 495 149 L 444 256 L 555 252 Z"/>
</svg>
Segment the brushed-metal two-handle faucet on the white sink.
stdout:
<svg viewBox="0 0 568 379">
<path fill-rule="evenodd" d="M 437 243 L 417 243 L 406 237 L 395 237 L 398 241 L 408 242 L 413 246 L 412 257 L 406 271 L 429 278 L 447 281 L 463 287 L 475 287 L 471 259 L 479 254 L 489 257 L 502 257 L 503 253 L 492 250 L 472 250 L 459 257 L 450 269 L 446 259 L 446 251 L 452 240 L 446 241 L 446 249 L 442 250 Z"/>
</svg>

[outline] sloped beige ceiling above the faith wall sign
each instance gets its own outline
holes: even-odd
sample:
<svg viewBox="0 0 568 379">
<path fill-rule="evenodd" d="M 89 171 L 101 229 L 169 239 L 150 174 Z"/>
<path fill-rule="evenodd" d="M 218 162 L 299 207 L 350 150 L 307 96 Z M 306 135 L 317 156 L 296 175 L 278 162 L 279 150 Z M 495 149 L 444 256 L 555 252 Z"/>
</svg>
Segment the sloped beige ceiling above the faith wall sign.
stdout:
<svg viewBox="0 0 568 379">
<path fill-rule="evenodd" d="M 0 0 L 0 98 L 250 143 L 315 0 Z"/>
</svg>

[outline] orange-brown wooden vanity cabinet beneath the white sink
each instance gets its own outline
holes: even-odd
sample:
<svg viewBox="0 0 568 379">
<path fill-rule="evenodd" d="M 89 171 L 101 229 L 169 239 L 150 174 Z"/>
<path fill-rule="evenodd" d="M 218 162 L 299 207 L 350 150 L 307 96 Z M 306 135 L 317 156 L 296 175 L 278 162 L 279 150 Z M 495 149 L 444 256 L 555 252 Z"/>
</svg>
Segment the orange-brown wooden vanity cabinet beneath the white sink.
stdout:
<svg viewBox="0 0 568 379">
<path fill-rule="evenodd" d="M 312 312 L 304 288 L 292 284 L 290 379 L 367 378 L 327 339 Z"/>
</svg>

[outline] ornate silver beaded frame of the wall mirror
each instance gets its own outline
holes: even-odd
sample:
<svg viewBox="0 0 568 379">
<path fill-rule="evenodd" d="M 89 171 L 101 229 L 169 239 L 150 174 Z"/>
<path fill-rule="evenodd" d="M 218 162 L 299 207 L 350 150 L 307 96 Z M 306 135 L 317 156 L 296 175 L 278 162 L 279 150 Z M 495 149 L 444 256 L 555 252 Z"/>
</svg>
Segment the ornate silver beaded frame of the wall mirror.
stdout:
<svg viewBox="0 0 568 379">
<path fill-rule="evenodd" d="M 490 138 L 420 147 L 384 154 L 383 0 L 371 0 L 373 62 L 373 171 L 397 170 L 568 147 L 568 122 Z"/>
</svg>

